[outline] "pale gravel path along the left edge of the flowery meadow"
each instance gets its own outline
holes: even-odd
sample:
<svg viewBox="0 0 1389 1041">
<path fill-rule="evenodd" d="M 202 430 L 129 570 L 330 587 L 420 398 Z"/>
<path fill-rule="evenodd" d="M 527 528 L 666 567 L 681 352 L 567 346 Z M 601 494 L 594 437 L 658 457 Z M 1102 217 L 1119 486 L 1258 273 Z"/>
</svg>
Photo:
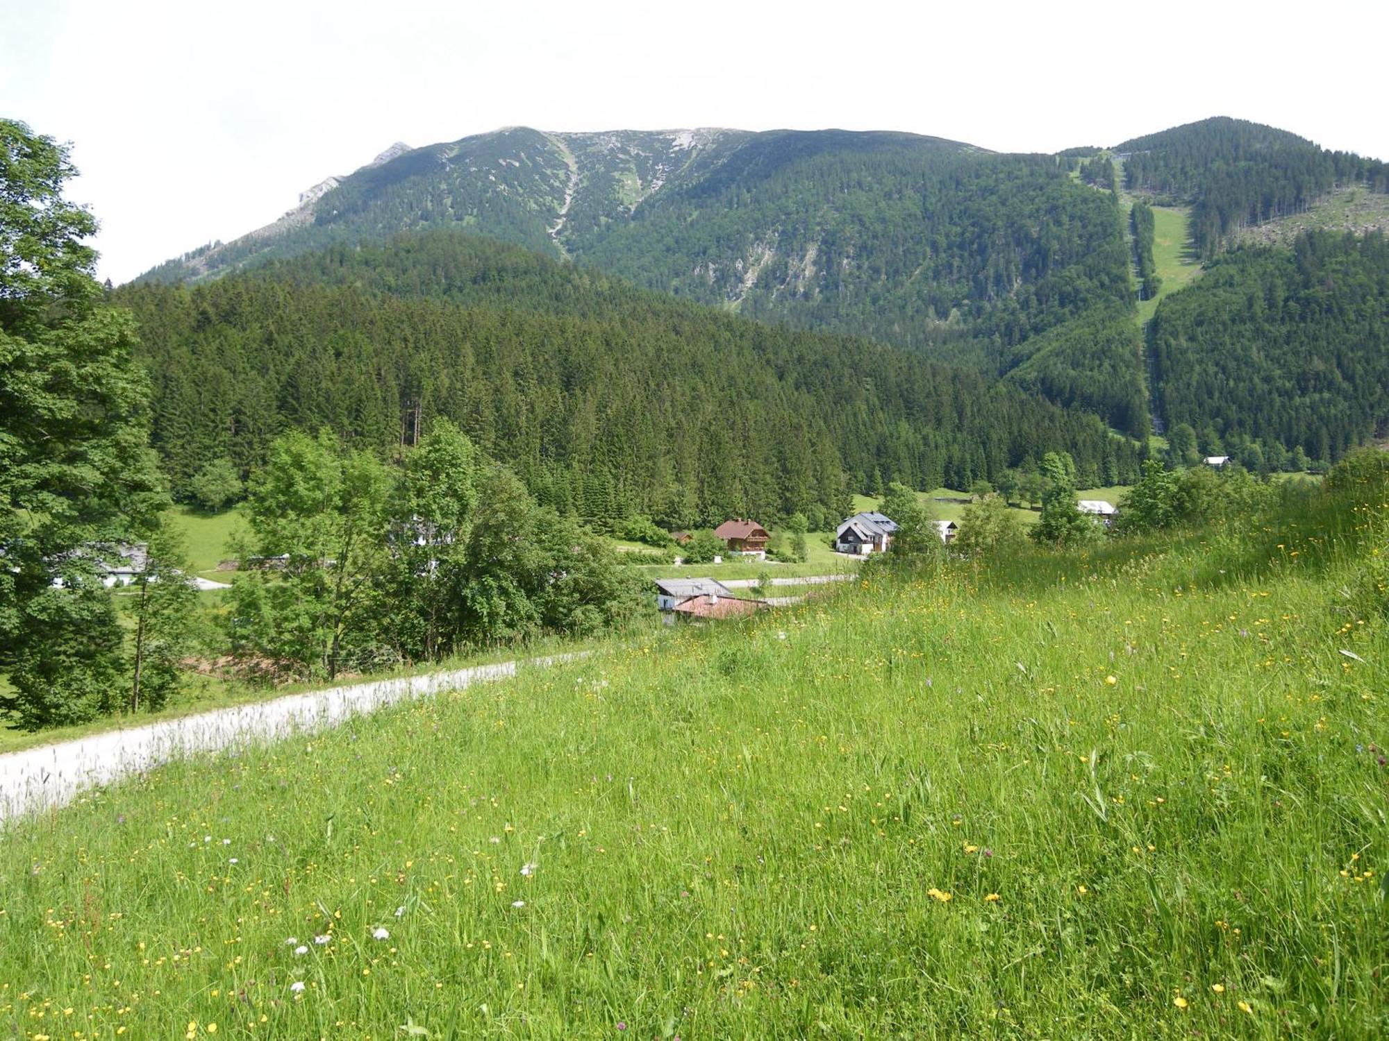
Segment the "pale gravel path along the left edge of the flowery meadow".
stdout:
<svg viewBox="0 0 1389 1041">
<path fill-rule="evenodd" d="M 515 676 L 518 665 L 543 668 L 585 654 L 329 687 L 8 752 L 0 755 L 0 820 L 61 806 L 86 788 L 169 759 L 336 726 L 397 701 Z"/>
</svg>

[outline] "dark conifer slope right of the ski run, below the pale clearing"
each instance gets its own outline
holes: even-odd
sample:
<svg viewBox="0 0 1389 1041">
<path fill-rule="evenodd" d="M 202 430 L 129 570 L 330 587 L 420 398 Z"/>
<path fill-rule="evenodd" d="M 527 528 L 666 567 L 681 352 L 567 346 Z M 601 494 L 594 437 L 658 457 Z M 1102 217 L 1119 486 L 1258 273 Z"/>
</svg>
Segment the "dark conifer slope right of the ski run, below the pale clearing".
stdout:
<svg viewBox="0 0 1389 1041">
<path fill-rule="evenodd" d="M 1153 321 L 1163 414 L 1203 450 L 1256 439 L 1335 459 L 1389 422 L 1389 242 L 1240 248 Z"/>
</svg>

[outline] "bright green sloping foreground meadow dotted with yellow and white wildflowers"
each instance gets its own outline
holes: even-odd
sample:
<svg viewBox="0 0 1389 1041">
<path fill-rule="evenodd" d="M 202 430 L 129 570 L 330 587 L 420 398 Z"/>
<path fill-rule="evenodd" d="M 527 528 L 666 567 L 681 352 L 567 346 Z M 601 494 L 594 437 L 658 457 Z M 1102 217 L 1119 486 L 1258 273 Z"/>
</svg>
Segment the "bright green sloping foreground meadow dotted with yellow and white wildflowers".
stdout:
<svg viewBox="0 0 1389 1041">
<path fill-rule="evenodd" d="M 1026 551 L 8 827 L 14 1037 L 1382 1037 L 1378 515 Z"/>
</svg>

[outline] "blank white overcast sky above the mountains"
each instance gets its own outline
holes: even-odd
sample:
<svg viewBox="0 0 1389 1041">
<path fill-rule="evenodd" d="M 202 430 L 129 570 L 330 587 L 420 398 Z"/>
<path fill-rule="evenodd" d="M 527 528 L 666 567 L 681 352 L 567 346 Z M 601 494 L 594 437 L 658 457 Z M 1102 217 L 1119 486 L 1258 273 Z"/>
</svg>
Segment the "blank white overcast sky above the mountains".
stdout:
<svg viewBox="0 0 1389 1041">
<path fill-rule="evenodd" d="M 396 140 L 895 129 L 999 151 L 1235 115 L 1389 158 L 1389 1 L 0 0 L 0 115 L 72 142 L 115 282 Z"/>
</svg>

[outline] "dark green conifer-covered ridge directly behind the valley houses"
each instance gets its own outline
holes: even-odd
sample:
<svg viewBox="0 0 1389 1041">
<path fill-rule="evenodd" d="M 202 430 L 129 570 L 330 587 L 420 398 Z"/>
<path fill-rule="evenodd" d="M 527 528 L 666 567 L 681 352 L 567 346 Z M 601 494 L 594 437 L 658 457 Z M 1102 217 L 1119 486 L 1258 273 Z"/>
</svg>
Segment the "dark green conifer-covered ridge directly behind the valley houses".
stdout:
<svg viewBox="0 0 1389 1041">
<path fill-rule="evenodd" d="M 139 318 L 175 489 L 217 458 L 258 464 L 286 428 L 390 450 L 435 416 L 544 504 L 669 525 L 835 519 L 875 473 L 968 487 L 1049 448 L 1086 483 L 1126 480 L 1138 462 L 1095 416 L 976 372 L 457 235 L 117 300 Z"/>
</svg>

